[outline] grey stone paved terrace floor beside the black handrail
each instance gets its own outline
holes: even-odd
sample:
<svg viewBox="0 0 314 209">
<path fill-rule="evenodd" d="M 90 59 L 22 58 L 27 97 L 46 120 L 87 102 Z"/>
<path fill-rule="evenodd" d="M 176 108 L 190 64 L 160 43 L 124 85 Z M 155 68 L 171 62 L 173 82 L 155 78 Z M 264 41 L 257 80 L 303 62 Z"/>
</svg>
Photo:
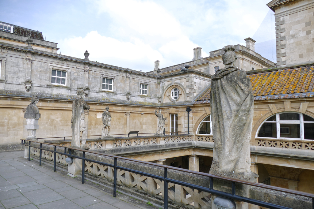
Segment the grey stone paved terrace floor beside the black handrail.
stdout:
<svg viewBox="0 0 314 209">
<path fill-rule="evenodd" d="M 0 152 L 0 209 L 154 209 L 146 202 L 24 158 L 24 151 Z"/>
</svg>

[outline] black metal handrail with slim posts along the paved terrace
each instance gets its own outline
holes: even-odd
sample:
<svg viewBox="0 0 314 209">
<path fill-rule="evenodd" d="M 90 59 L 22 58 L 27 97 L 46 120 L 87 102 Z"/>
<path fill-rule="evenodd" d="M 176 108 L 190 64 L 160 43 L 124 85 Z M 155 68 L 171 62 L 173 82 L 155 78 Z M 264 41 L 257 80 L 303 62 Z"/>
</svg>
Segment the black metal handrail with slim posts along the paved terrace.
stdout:
<svg viewBox="0 0 314 209">
<path fill-rule="evenodd" d="M 233 178 L 224 177 L 224 176 L 212 175 L 212 174 L 207 174 L 207 173 L 203 173 L 203 172 L 199 172 L 199 171 L 186 170 L 186 169 L 172 167 L 172 166 L 168 166 L 168 165 L 160 165 L 160 164 L 156 164 L 156 163 L 146 162 L 146 161 L 137 160 L 137 159 L 130 159 L 130 158 L 116 156 L 116 155 L 111 155 L 111 154 L 103 154 L 103 153 L 98 153 L 98 152 L 89 151 L 89 150 L 83 150 L 83 149 L 77 149 L 77 148 L 69 148 L 69 147 L 62 146 L 62 145 L 49 144 L 49 143 L 44 143 L 44 142 L 32 141 L 32 140 L 28 140 L 28 139 L 21 139 L 21 140 L 22 140 L 22 143 L 21 143 L 22 145 L 25 145 L 25 146 L 29 147 L 28 161 L 30 161 L 30 148 L 31 147 L 36 148 L 36 149 L 40 149 L 39 165 L 41 165 L 41 153 L 42 153 L 41 150 L 46 150 L 46 151 L 53 152 L 54 153 L 53 171 L 56 171 L 56 154 L 57 153 L 66 155 L 68 157 L 73 157 L 73 158 L 77 158 L 77 159 L 83 160 L 82 166 L 85 166 L 85 160 L 88 160 L 89 162 L 94 162 L 94 163 L 98 163 L 100 165 L 106 165 L 106 166 L 109 166 L 109 167 L 113 167 L 114 168 L 114 179 L 113 179 L 113 181 L 114 181 L 114 183 L 113 183 L 114 184 L 113 196 L 114 197 L 116 197 L 116 172 L 117 172 L 117 169 L 133 172 L 133 173 L 140 174 L 140 175 L 145 175 L 145 176 L 152 177 L 152 178 L 155 178 L 155 179 L 158 179 L 158 180 L 163 180 L 164 183 L 165 183 L 165 185 L 164 185 L 164 207 L 165 207 L 165 209 L 168 208 L 168 183 L 169 182 L 170 183 L 174 183 L 174 184 L 178 184 L 178 185 L 182 185 L 182 186 L 187 186 L 187 187 L 190 187 L 190 188 L 193 188 L 193 189 L 198 189 L 198 190 L 205 191 L 205 192 L 208 192 L 208 193 L 211 193 L 211 194 L 225 196 L 227 198 L 248 202 L 248 203 L 251 203 L 251 204 L 254 204 L 254 205 L 267 207 L 267 208 L 270 208 L 270 209 L 291 209 L 291 208 L 288 208 L 288 207 L 285 207 L 285 206 L 279 206 L 279 205 L 276 205 L 276 204 L 273 204 L 273 203 L 268 203 L 268 202 L 259 201 L 259 200 L 255 200 L 255 199 L 252 199 L 252 198 L 236 195 L 236 183 L 240 183 L 240 184 L 251 185 L 251 186 L 256 186 L 256 187 L 260 187 L 260 188 L 265 188 L 265 189 L 270 189 L 270 190 L 275 190 L 275 191 L 280 191 L 280 192 L 285 192 L 285 193 L 290 193 L 290 194 L 294 194 L 294 195 L 299 195 L 299 196 L 312 198 L 312 207 L 314 208 L 314 194 L 310 194 L 310 193 L 307 193 L 307 192 L 295 191 L 295 190 L 285 189 L 285 188 L 281 188 L 281 187 L 277 187 L 277 186 L 265 185 L 265 184 L 261 184 L 261 183 L 254 183 L 254 182 L 240 180 L 240 179 L 233 179 Z M 25 143 L 26 141 L 28 141 L 29 144 L 26 144 Z M 31 142 L 33 142 L 33 143 L 40 143 L 40 147 L 31 145 Z M 42 144 L 54 146 L 54 150 L 42 148 Z M 57 147 L 64 148 L 64 153 L 57 151 Z M 69 153 L 67 153 L 67 149 L 68 149 Z M 71 154 L 71 150 L 77 150 L 77 151 L 83 152 L 82 157 Z M 104 163 L 104 162 L 100 162 L 100 161 L 93 160 L 93 159 L 87 159 L 87 158 L 85 158 L 85 153 L 86 152 L 87 153 L 92 153 L 92 154 L 103 155 L 103 156 L 106 156 L 106 157 L 112 157 L 112 158 L 114 158 L 114 165 L 108 164 L 108 163 Z M 147 165 L 153 165 L 153 166 L 162 167 L 162 168 L 165 169 L 164 170 L 165 171 L 164 177 L 118 166 L 116 164 L 117 159 L 123 159 L 123 160 L 143 163 L 143 164 L 147 164 Z M 186 182 L 179 181 L 179 180 L 169 179 L 167 177 L 167 170 L 168 169 L 178 170 L 178 171 L 182 171 L 182 172 L 186 172 L 186 173 L 192 173 L 192 174 L 196 174 L 196 175 L 207 176 L 207 177 L 209 177 L 209 188 L 204 187 L 204 186 L 199 186 L 199 185 L 186 183 Z M 82 167 L 82 184 L 84 184 L 84 180 L 85 180 L 84 174 L 85 174 L 85 169 Z M 230 181 L 231 185 L 232 185 L 232 193 L 227 193 L 227 192 L 223 192 L 223 191 L 214 190 L 213 189 L 213 179 L 214 178 L 215 179 L 220 179 L 220 180 Z"/>
</svg>

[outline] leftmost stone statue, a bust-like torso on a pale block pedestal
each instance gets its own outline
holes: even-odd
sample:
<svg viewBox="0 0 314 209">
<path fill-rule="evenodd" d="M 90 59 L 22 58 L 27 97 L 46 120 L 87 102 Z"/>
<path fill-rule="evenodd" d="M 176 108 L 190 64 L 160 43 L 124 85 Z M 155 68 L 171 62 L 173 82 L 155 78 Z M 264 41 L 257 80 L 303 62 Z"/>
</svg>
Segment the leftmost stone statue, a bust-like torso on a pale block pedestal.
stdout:
<svg viewBox="0 0 314 209">
<path fill-rule="evenodd" d="M 38 119 L 40 118 L 39 109 L 36 104 L 39 101 L 37 96 L 32 97 L 32 102 L 26 107 L 24 118 L 26 118 L 27 125 L 25 129 L 28 132 L 27 139 L 36 139 L 36 130 L 38 129 Z"/>
</svg>

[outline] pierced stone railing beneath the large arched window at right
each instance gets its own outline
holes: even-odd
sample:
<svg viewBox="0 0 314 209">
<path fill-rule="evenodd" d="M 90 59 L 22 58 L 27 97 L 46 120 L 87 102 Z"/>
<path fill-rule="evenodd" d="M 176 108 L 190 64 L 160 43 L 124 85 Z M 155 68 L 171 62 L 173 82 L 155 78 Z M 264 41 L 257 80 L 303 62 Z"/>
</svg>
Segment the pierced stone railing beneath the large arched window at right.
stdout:
<svg viewBox="0 0 314 209">
<path fill-rule="evenodd" d="M 314 141 L 255 138 L 256 146 L 314 150 Z"/>
</svg>

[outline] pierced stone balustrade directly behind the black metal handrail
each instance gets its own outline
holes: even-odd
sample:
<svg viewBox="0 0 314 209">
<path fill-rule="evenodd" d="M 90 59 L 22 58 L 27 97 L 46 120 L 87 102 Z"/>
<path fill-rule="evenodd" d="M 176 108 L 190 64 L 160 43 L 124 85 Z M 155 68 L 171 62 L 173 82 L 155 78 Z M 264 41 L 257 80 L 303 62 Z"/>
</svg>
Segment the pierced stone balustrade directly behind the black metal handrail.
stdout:
<svg viewBox="0 0 314 209">
<path fill-rule="evenodd" d="M 186 138 L 188 137 L 186 136 Z M 191 136 L 189 136 L 189 138 L 191 138 Z M 51 150 L 54 149 L 53 148 L 54 146 L 49 146 L 49 145 L 45 145 L 43 147 L 51 149 Z M 39 157 L 40 150 L 37 148 L 32 148 L 31 155 L 35 155 Z M 87 158 L 95 157 L 95 159 L 97 158 L 97 160 L 100 160 L 103 162 L 106 161 L 107 163 L 113 164 L 113 162 L 111 162 L 113 161 L 112 159 L 102 158 L 103 156 L 100 156 L 100 155 L 99 156 L 96 156 L 96 155 L 87 156 L 86 154 L 85 156 Z M 65 161 L 66 158 L 67 158 L 66 155 L 56 154 L 56 163 L 62 166 L 67 166 L 68 163 Z M 51 161 L 51 163 L 53 163 L 53 159 L 54 159 L 53 152 L 42 150 L 42 159 L 46 159 L 48 161 Z M 120 163 L 122 163 L 123 166 L 127 165 L 126 162 L 120 162 Z M 143 169 L 145 170 L 144 168 L 145 166 L 140 166 L 140 165 L 136 165 L 136 166 L 137 168 L 143 167 Z M 158 170 L 158 169 L 160 168 L 154 168 L 154 166 L 149 168 L 149 170 L 151 170 L 152 173 L 155 172 L 156 175 L 158 175 L 158 173 L 163 173 L 163 170 Z M 147 170 L 147 167 L 146 167 L 146 170 Z M 114 176 L 113 172 L 114 172 L 114 169 L 112 167 L 85 161 L 85 174 L 88 173 L 89 175 L 94 176 L 94 178 L 96 178 L 94 180 L 106 179 L 109 181 L 113 181 L 113 176 Z M 168 176 L 174 179 L 184 178 L 184 174 L 179 174 L 177 172 L 171 172 L 168 174 Z M 190 176 L 188 176 L 187 179 L 189 178 Z M 199 185 L 206 185 L 206 184 L 209 185 L 208 179 L 200 178 L 197 176 L 195 176 L 195 178 L 198 179 L 196 182 L 198 182 Z M 163 200 L 164 198 L 164 194 L 163 194 L 164 181 L 161 181 L 158 179 L 154 179 L 151 177 L 147 177 L 147 176 L 143 176 L 143 175 L 139 175 L 139 174 L 135 174 L 132 172 L 118 169 L 117 170 L 117 184 L 122 187 L 135 189 L 136 191 L 138 191 L 138 194 L 144 193 L 145 195 L 154 196 L 155 198 L 160 199 L 160 200 Z M 185 207 L 194 208 L 194 209 L 196 208 L 197 209 L 201 209 L 201 208 L 210 209 L 211 208 L 210 197 L 211 197 L 210 193 L 208 192 L 199 191 L 196 189 L 192 189 L 186 186 L 181 186 L 181 185 L 177 185 L 173 183 L 168 183 L 168 200 L 178 206 L 185 206 Z"/>
</svg>

